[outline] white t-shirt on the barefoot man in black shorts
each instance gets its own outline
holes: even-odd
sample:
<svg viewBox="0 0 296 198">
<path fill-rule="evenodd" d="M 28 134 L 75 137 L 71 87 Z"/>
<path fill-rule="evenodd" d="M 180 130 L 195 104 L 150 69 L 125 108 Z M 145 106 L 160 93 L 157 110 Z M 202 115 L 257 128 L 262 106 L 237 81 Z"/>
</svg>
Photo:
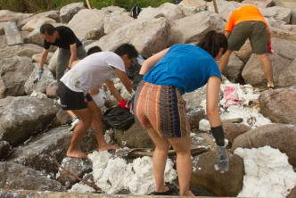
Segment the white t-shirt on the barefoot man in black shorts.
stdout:
<svg viewBox="0 0 296 198">
<path fill-rule="evenodd" d="M 90 54 L 63 75 L 61 81 L 75 92 L 84 92 L 106 79 L 112 79 L 113 68 L 125 71 L 125 65 L 118 54 L 101 52 Z"/>
</svg>

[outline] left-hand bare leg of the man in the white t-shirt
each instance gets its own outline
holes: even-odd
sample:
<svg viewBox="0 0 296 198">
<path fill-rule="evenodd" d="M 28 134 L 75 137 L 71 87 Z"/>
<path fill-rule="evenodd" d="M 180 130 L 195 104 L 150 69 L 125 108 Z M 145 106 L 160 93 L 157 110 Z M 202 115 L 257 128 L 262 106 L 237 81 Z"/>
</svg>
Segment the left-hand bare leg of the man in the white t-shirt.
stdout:
<svg viewBox="0 0 296 198">
<path fill-rule="evenodd" d="M 91 111 L 88 108 L 83 110 L 73 110 L 73 112 L 78 115 L 79 123 L 76 128 L 74 128 L 73 136 L 70 142 L 69 149 L 67 151 L 68 157 L 87 159 L 87 155 L 78 150 L 78 144 L 81 138 L 86 134 L 87 128 L 92 122 Z"/>
</svg>

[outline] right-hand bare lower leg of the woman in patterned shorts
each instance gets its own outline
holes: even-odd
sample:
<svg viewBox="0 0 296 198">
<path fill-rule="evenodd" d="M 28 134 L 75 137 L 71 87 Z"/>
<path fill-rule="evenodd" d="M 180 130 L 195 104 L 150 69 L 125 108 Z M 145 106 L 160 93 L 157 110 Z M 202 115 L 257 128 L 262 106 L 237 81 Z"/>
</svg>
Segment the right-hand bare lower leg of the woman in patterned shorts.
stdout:
<svg viewBox="0 0 296 198">
<path fill-rule="evenodd" d="M 191 174 L 193 171 L 190 135 L 169 138 L 169 142 L 177 153 L 177 176 L 181 196 L 193 196 L 193 192 L 189 190 Z"/>
</svg>

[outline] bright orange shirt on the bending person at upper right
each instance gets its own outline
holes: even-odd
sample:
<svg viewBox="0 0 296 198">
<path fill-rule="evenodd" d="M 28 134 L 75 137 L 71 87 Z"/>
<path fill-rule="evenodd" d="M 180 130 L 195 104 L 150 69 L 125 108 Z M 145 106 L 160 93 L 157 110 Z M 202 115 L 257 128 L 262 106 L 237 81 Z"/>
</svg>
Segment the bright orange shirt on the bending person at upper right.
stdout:
<svg viewBox="0 0 296 198">
<path fill-rule="evenodd" d="M 234 26 L 242 21 L 263 21 L 267 25 L 267 21 L 265 21 L 259 9 L 254 5 L 248 4 L 235 9 L 231 13 L 224 30 L 232 31 Z"/>
</svg>

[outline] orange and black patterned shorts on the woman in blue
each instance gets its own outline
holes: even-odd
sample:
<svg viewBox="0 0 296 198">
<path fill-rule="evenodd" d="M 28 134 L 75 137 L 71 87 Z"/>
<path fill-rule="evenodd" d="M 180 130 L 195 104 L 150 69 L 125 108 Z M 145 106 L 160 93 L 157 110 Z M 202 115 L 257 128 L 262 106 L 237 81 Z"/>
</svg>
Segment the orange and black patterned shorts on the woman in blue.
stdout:
<svg viewBox="0 0 296 198">
<path fill-rule="evenodd" d="M 139 126 L 154 128 L 163 138 L 190 134 L 185 101 L 177 87 L 142 80 L 136 89 L 134 114 Z"/>
</svg>

